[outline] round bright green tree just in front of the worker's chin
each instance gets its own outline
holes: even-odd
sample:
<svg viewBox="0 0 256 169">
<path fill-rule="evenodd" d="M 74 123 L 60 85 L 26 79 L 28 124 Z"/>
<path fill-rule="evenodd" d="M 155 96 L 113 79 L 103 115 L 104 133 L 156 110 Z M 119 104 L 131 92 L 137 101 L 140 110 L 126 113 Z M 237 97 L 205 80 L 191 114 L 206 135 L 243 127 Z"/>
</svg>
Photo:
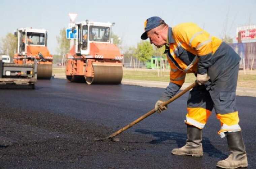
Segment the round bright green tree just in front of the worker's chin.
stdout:
<svg viewBox="0 0 256 169">
<path fill-rule="evenodd" d="M 145 62 L 151 59 L 153 53 L 154 48 L 149 41 L 140 41 L 137 44 L 137 50 L 135 55 L 140 61 Z"/>
</svg>

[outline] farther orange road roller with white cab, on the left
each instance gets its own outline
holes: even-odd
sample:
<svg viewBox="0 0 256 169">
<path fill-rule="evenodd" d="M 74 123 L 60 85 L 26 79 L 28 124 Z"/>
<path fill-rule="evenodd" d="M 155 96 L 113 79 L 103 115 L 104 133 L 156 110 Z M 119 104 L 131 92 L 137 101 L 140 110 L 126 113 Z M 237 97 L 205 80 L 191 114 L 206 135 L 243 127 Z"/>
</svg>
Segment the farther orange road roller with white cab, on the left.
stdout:
<svg viewBox="0 0 256 169">
<path fill-rule="evenodd" d="M 17 37 L 17 53 L 13 62 L 18 65 L 33 65 L 37 62 L 37 79 L 51 79 L 53 56 L 47 48 L 47 30 L 19 28 L 14 32 Z"/>
</svg>

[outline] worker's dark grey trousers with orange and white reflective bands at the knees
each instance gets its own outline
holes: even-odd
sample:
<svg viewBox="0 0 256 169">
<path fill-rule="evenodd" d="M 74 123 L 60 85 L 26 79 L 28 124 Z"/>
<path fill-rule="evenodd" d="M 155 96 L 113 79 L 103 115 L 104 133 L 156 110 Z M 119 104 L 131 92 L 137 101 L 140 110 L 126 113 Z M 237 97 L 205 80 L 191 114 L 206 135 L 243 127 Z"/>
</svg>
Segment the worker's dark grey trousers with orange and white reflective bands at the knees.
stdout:
<svg viewBox="0 0 256 169">
<path fill-rule="evenodd" d="M 216 61 L 208 70 L 211 80 L 190 91 L 187 101 L 186 124 L 202 129 L 214 108 L 216 117 L 221 124 L 221 129 L 218 132 L 221 137 L 225 137 L 225 132 L 241 130 L 238 124 L 238 111 L 235 107 L 239 63 L 227 65 L 227 59 L 232 55 L 236 56 L 237 54 L 230 50 L 226 54 L 227 58 Z"/>
</svg>

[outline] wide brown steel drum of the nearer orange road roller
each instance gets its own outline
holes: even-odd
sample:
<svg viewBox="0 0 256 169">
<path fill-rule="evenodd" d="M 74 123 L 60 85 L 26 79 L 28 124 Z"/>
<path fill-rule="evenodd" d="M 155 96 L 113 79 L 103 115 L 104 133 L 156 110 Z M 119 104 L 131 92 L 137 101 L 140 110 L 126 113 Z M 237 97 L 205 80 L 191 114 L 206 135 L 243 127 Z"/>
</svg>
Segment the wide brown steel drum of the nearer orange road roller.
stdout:
<svg viewBox="0 0 256 169">
<path fill-rule="evenodd" d="M 117 65 L 93 65 L 94 77 L 86 77 L 87 84 L 120 84 L 123 68 Z"/>
</svg>

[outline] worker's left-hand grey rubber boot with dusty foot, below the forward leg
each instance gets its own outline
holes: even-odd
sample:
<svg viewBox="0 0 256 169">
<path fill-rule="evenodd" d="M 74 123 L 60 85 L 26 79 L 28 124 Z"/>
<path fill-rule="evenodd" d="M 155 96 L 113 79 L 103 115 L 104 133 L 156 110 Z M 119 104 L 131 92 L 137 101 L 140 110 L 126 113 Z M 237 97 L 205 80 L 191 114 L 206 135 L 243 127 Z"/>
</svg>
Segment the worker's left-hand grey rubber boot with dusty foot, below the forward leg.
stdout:
<svg viewBox="0 0 256 169">
<path fill-rule="evenodd" d="M 202 147 L 202 130 L 197 127 L 187 125 L 187 143 L 179 149 L 173 149 L 171 151 L 174 155 L 180 156 L 203 156 Z"/>
</svg>

